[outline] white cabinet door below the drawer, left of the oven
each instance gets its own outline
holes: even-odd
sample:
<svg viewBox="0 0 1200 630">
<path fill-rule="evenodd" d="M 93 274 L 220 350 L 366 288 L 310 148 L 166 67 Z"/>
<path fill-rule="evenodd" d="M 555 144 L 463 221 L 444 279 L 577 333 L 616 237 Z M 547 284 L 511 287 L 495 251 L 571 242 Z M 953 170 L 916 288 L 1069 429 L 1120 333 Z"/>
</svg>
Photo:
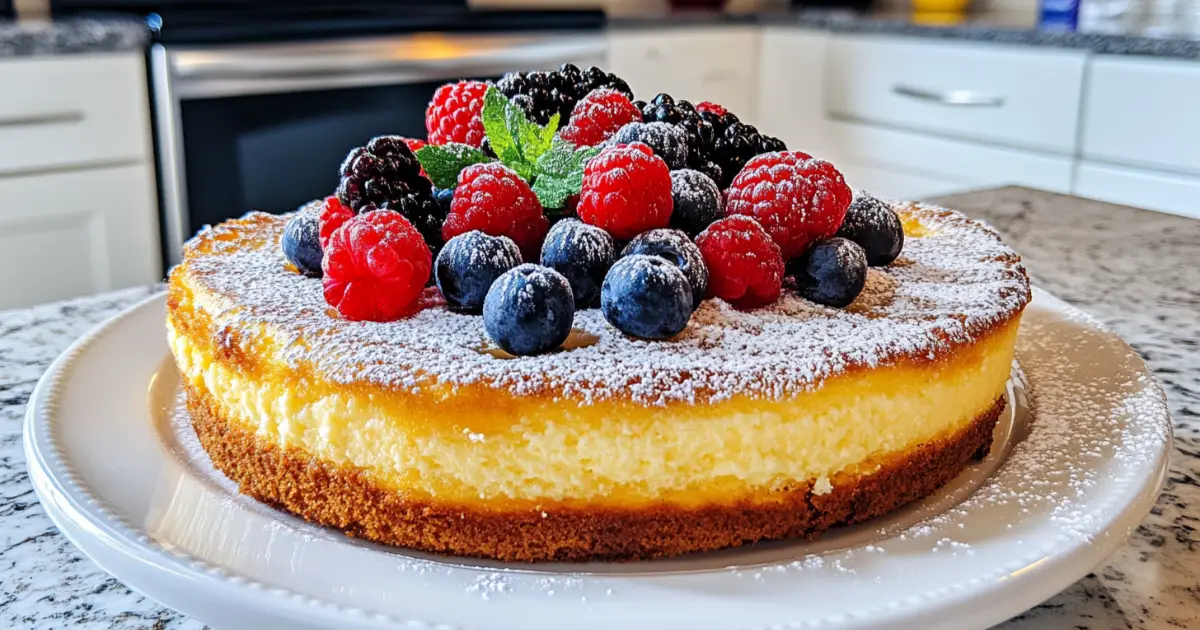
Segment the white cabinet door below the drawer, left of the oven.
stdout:
<svg viewBox="0 0 1200 630">
<path fill-rule="evenodd" d="M 148 166 L 0 179 L 0 308 L 162 277 Z"/>
</svg>

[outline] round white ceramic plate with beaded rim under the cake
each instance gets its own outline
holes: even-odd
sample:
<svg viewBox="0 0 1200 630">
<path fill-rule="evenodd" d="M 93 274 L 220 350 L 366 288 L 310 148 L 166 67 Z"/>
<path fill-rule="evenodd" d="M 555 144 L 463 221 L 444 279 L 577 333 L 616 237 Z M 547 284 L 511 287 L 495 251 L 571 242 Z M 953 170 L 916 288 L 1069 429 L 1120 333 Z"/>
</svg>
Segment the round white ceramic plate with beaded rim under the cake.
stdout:
<svg viewBox="0 0 1200 630">
<path fill-rule="evenodd" d="M 241 497 L 178 402 L 157 295 L 50 366 L 25 422 L 50 517 L 132 588 L 215 628 L 986 628 L 1054 595 L 1150 510 L 1171 424 L 1112 332 L 1043 292 L 991 456 L 938 494 L 815 542 L 504 565 L 347 539 Z"/>
</svg>

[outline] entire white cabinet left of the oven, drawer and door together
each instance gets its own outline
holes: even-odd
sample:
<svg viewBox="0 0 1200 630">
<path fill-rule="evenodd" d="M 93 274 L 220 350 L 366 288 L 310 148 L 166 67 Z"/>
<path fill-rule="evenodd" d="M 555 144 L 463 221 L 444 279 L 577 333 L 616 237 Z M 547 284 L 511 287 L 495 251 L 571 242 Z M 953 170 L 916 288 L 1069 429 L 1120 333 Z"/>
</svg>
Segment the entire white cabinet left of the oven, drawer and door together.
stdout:
<svg viewBox="0 0 1200 630">
<path fill-rule="evenodd" d="M 0 308 L 162 277 L 139 52 L 0 60 Z"/>
</svg>

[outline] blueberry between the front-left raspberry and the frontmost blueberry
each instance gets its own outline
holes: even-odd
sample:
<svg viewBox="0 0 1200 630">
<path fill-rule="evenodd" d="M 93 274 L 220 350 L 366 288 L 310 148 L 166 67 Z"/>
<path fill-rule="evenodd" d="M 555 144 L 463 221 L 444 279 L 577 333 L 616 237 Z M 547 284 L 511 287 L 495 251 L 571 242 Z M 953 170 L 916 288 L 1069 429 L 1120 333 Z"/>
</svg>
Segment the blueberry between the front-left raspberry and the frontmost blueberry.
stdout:
<svg viewBox="0 0 1200 630">
<path fill-rule="evenodd" d="M 521 250 L 512 239 L 476 229 L 442 247 L 433 263 L 433 277 L 451 308 L 478 313 L 496 278 L 520 264 Z"/>
</svg>

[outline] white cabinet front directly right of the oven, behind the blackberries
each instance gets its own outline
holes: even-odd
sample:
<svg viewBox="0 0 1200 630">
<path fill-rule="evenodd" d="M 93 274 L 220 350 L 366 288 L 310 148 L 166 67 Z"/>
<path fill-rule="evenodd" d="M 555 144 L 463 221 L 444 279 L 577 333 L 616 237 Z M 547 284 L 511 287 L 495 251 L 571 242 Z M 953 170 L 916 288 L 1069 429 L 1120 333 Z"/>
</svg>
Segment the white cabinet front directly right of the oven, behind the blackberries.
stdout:
<svg viewBox="0 0 1200 630">
<path fill-rule="evenodd" d="M 608 43 L 608 70 L 625 79 L 637 98 L 667 92 L 694 103 L 721 103 L 743 119 L 754 115 L 756 28 L 616 30 Z"/>
</svg>

